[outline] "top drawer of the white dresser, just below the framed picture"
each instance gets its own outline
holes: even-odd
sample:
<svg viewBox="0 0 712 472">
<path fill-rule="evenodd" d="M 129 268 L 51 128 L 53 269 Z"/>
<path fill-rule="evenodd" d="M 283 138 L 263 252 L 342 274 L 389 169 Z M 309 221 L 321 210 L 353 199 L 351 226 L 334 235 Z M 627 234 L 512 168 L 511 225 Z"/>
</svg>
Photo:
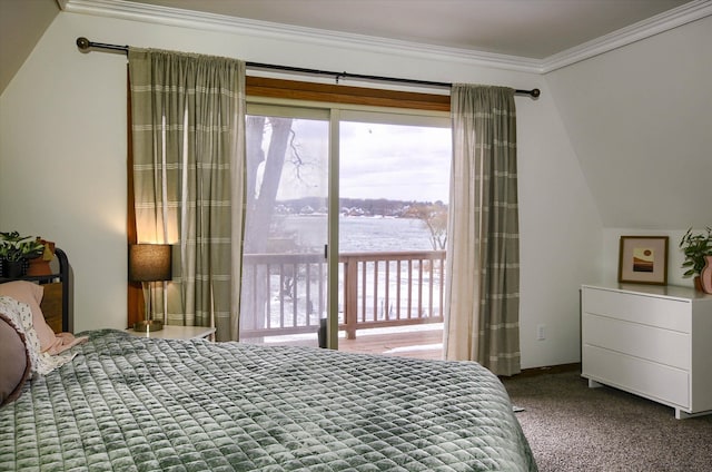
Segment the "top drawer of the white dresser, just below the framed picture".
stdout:
<svg viewBox="0 0 712 472">
<path fill-rule="evenodd" d="M 689 302 L 584 287 L 583 312 L 681 333 L 691 332 Z"/>
</svg>

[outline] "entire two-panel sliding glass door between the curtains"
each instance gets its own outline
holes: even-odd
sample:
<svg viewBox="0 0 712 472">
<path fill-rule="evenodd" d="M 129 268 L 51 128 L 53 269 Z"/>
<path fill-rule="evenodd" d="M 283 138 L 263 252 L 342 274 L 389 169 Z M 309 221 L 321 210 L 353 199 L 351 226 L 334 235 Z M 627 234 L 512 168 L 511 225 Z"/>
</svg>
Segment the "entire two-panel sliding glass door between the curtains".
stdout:
<svg viewBox="0 0 712 472">
<path fill-rule="evenodd" d="M 449 119 L 253 104 L 246 137 L 240 341 L 439 358 Z"/>
</svg>

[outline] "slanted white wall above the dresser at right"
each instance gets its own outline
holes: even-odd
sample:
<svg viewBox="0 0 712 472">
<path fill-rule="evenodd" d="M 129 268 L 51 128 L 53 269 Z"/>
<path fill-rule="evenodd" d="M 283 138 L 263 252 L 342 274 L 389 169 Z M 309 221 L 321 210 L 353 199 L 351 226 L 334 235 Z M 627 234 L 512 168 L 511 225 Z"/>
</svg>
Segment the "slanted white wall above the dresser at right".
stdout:
<svg viewBox="0 0 712 472">
<path fill-rule="evenodd" d="M 712 17 L 546 75 L 604 227 L 712 225 Z"/>
</svg>

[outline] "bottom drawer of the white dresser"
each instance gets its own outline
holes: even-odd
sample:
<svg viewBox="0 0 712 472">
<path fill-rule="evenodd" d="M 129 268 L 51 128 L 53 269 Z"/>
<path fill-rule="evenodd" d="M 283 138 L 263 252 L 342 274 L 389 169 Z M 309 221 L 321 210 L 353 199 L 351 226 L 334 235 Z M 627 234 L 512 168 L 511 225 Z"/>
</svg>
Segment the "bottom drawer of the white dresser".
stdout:
<svg viewBox="0 0 712 472">
<path fill-rule="evenodd" d="M 586 378 L 681 409 L 690 406 L 686 371 L 591 345 L 583 346 L 582 368 Z"/>
</svg>

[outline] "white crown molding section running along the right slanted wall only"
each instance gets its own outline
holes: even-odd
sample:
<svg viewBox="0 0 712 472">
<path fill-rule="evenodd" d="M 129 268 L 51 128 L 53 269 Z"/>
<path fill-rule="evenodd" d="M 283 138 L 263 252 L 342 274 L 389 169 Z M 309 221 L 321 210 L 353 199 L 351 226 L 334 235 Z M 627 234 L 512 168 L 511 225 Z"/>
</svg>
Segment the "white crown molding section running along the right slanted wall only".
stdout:
<svg viewBox="0 0 712 472">
<path fill-rule="evenodd" d="M 712 16 L 712 0 L 691 1 L 592 41 L 550 56 L 542 61 L 541 72 L 547 73 L 581 62 L 709 16 Z"/>
</svg>

